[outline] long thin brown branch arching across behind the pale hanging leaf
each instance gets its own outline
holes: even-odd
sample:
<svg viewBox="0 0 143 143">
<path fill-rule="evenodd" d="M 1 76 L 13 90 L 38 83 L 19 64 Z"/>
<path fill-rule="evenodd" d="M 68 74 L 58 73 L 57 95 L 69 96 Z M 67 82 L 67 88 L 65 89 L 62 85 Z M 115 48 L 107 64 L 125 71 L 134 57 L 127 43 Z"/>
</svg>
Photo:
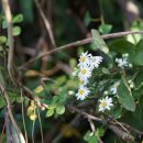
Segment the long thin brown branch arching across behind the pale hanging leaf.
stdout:
<svg viewBox="0 0 143 143">
<path fill-rule="evenodd" d="M 112 34 L 106 34 L 106 35 L 101 35 L 101 37 L 103 40 L 109 40 L 109 38 L 114 38 L 114 37 L 121 37 L 121 36 L 125 36 L 125 35 L 129 35 L 129 34 L 143 34 L 143 31 L 134 31 L 134 32 L 131 32 L 131 31 L 128 31 L 128 32 L 118 32 L 118 33 L 112 33 Z M 69 48 L 69 47 L 77 47 L 77 46 L 80 46 L 80 45 L 85 45 L 85 44 L 89 44 L 92 42 L 92 37 L 89 37 L 89 38 L 85 38 L 85 40 L 81 40 L 81 41 L 77 41 L 77 42 L 73 42 L 70 44 L 66 44 L 64 46 L 59 46 L 55 50 L 52 50 L 50 52 L 45 52 L 45 53 L 42 53 L 40 55 L 37 55 L 36 57 L 33 57 L 31 58 L 29 62 L 24 63 L 20 69 L 23 69 L 24 67 L 29 66 L 30 64 L 34 63 L 35 61 L 44 57 L 44 56 L 47 56 L 50 54 L 54 54 L 56 52 L 59 52 L 62 50 L 66 50 L 66 48 Z"/>
</svg>

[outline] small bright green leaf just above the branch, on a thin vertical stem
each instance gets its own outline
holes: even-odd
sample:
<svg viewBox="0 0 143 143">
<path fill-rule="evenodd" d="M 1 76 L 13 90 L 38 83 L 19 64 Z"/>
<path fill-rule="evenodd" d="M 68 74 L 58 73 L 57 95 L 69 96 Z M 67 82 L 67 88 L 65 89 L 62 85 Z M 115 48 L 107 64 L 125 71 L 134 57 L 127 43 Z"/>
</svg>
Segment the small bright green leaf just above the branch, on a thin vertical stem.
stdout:
<svg viewBox="0 0 143 143">
<path fill-rule="evenodd" d="M 112 25 L 110 25 L 110 24 L 101 24 L 98 30 L 99 30 L 99 32 L 101 34 L 108 34 L 112 30 Z"/>
</svg>

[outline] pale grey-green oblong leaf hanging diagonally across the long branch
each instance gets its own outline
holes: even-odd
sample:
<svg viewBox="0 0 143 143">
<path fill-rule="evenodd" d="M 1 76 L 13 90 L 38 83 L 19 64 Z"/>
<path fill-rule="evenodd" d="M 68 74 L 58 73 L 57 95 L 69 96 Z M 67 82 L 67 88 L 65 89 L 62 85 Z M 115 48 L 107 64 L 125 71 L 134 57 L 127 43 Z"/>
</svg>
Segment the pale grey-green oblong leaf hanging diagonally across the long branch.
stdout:
<svg viewBox="0 0 143 143">
<path fill-rule="evenodd" d="M 99 48 L 100 51 L 102 51 L 106 54 L 108 54 L 109 53 L 109 48 L 108 48 L 106 42 L 100 36 L 99 32 L 97 30 L 91 30 L 91 34 L 92 34 L 95 47 L 97 50 Z"/>
</svg>

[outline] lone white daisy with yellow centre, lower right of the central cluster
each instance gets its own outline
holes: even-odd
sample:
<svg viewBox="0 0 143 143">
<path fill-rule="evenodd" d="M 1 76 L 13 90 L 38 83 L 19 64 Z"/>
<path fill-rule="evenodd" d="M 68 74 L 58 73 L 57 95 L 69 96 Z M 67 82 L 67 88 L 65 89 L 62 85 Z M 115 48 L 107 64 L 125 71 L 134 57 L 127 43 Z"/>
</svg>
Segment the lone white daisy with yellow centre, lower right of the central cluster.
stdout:
<svg viewBox="0 0 143 143">
<path fill-rule="evenodd" d="M 110 110 L 110 108 L 113 106 L 112 98 L 108 98 L 108 96 L 99 101 L 100 101 L 99 111 L 101 112 L 103 112 L 106 109 Z"/>
</svg>

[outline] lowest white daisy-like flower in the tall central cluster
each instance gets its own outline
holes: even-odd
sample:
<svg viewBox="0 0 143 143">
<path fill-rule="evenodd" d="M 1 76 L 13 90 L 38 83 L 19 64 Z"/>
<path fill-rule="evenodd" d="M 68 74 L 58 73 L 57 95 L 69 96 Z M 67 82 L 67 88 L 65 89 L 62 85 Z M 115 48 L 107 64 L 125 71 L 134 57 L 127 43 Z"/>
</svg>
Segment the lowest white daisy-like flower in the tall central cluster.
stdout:
<svg viewBox="0 0 143 143">
<path fill-rule="evenodd" d="M 89 95 L 89 92 L 90 90 L 87 87 L 80 86 L 76 97 L 78 100 L 84 100 Z"/>
</svg>

